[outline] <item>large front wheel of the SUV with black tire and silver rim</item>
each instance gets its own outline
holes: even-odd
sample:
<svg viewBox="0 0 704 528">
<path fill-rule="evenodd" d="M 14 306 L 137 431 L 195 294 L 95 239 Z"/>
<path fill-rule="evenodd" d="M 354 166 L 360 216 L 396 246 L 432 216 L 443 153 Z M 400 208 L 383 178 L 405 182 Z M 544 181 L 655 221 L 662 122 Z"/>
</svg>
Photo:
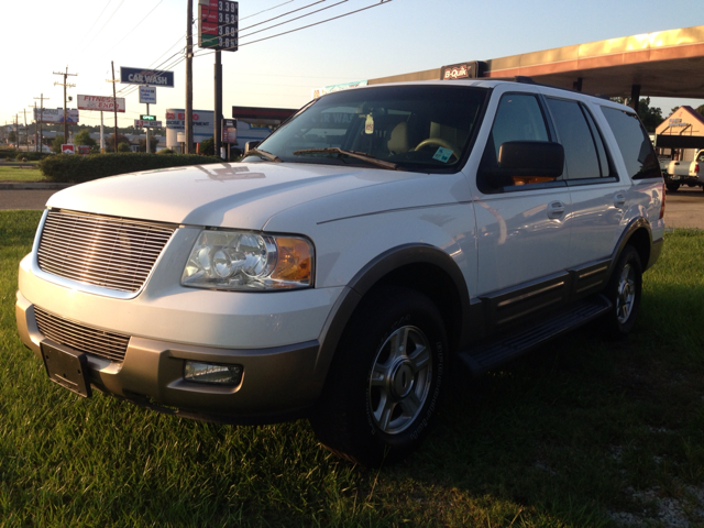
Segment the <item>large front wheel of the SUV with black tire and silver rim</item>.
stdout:
<svg viewBox="0 0 704 528">
<path fill-rule="evenodd" d="M 398 287 L 378 292 L 341 339 L 310 417 L 316 436 L 369 468 L 406 457 L 438 410 L 447 354 L 444 323 L 428 297 Z"/>
</svg>

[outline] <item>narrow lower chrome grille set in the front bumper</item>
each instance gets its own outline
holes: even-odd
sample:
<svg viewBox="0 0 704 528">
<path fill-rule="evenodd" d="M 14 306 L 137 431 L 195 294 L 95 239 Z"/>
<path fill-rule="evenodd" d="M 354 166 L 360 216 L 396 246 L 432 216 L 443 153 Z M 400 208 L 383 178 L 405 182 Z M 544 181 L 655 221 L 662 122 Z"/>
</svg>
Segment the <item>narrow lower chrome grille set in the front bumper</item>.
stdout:
<svg viewBox="0 0 704 528">
<path fill-rule="evenodd" d="M 34 307 L 34 318 L 40 331 L 58 344 L 70 346 L 78 352 L 100 355 L 112 361 L 123 361 L 128 350 L 129 336 L 106 332 L 54 316 Z"/>
</svg>

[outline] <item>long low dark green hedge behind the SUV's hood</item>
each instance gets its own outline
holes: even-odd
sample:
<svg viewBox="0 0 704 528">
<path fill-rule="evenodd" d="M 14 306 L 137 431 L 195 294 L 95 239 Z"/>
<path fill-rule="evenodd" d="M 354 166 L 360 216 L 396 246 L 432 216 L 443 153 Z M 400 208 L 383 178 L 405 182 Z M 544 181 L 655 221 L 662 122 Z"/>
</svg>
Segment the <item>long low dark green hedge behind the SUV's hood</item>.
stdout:
<svg viewBox="0 0 704 528">
<path fill-rule="evenodd" d="M 118 174 L 204 165 L 206 163 L 222 163 L 222 160 L 197 154 L 174 154 L 172 156 L 146 153 L 58 155 L 42 160 L 38 163 L 38 168 L 51 182 L 81 183 Z"/>
</svg>

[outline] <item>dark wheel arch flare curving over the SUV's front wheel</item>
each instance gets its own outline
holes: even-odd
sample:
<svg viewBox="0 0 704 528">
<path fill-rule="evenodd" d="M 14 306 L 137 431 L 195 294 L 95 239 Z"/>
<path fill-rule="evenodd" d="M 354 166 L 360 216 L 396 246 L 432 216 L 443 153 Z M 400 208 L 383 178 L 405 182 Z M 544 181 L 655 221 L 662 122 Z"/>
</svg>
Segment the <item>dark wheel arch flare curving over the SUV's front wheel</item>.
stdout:
<svg viewBox="0 0 704 528">
<path fill-rule="evenodd" d="M 422 273 L 428 275 L 425 279 Z M 464 276 L 450 255 L 428 244 L 404 244 L 371 261 L 350 280 L 331 311 L 320 336 L 315 382 L 324 383 L 344 328 L 364 296 L 381 285 L 407 285 L 428 295 L 446 321 L 452 348 L 466 341 L 471 306 Z M 438 289 L 440 285 L 440 289 Z M 440 302 L 442 301 L 442 302 Z M 476 321 L 481 324 L 481 321 Z M 476 322 L 473 322 L 474 326 Z"/>
</svg>

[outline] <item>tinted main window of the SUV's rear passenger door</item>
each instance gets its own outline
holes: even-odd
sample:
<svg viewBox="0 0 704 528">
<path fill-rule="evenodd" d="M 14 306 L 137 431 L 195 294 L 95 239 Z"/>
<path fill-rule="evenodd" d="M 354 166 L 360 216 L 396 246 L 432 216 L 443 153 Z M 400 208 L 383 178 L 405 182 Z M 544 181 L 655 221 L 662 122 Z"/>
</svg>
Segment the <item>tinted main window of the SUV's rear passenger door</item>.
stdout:
<svg viewBox="0 0 704 528">
<path fill-rule="evenodd" d="M 581 106 L 575 101 L 548 99 L 548 107 L 564 147 L 568 179 L 601 177 L 596 145 Z"/>
</svg>

